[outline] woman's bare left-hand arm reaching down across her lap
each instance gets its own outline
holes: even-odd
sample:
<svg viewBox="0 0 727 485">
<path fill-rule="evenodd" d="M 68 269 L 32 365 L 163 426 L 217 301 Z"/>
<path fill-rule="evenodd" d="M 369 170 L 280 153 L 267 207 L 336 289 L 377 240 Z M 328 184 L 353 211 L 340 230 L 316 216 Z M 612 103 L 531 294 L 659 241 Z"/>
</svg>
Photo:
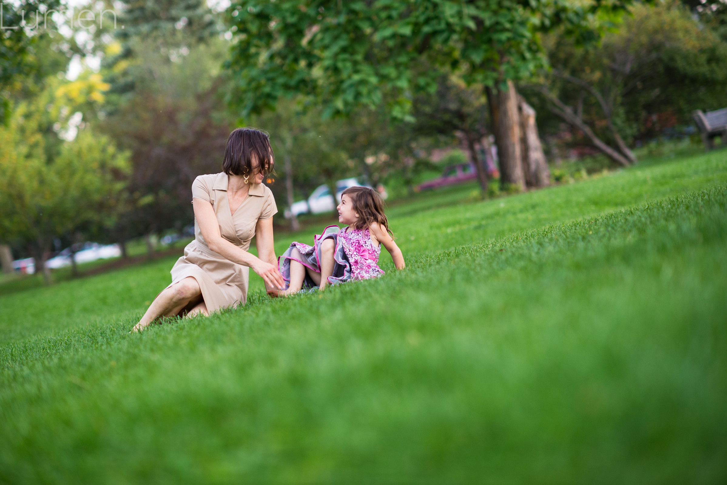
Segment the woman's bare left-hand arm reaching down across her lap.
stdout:
<svg viewBox="0 0 727 485">
<path fill-rule="evenodd" d="M 212 208 L 211 203 L 203 199 L 193 198 L 192 204 L 194 206 L 194 216 L 197 220 L 197 225 L 209 249 L 233 263 L 249 266 L 254 272 L 260 274 L 262 280 L 265 281 L 265 285 L 269 285 L 270 288 L 282 289 L 284 287 L 285 282 L 283 276 L 278 271 L 277 264 L 270 264 L 268 261 L 257 258 L 246 250 L 238 248 L 238 246 L 230 243 L 230 241 L 220 235 L 220 224 L 217 221 L 217 216 L 214 213 L 214 208 Z M 260 221 L 258 222 L 260 223 Z M 270 240 L 273 239 L 272 224 L 272 219 L 270 219 Z M 257 232 L 255 235 L 256 237 L 259 236 Z M 273 250 L 274 257 L 275 250 Z"/>
</svg>

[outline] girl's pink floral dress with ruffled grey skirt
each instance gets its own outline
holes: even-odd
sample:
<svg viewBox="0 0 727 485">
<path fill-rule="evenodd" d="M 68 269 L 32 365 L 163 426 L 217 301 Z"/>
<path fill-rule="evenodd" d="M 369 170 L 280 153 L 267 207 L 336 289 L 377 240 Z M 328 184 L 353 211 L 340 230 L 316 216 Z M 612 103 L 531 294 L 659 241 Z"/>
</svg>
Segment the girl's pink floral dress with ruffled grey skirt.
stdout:
<svg viewBox="0 0 727 485">
<path fill-rule="evenodd" d="M 278 268 L 286 282 L 286 289 L 290 283 L 290 261 L 294 259 L 314 272 L 321 272 L 321 243 L 332 239 L 335 243 L 333 274 L 329 282 L 333 285 L 347 281 L 369 280 L 384 274 L 379 268 L 381 244 L 375 245 L 371 241 L 369 229 L 353 229 L 338 226 L 329 226 L 322 235 L 313 238 L 313 245 L 292 243 L 286 252 L 278 258 Z M 294 257 L 293 250 L 297 249 L 301 259 Z M 318 288 L 313 280 L 305 275 L 303 288 Z"/>
</svg>

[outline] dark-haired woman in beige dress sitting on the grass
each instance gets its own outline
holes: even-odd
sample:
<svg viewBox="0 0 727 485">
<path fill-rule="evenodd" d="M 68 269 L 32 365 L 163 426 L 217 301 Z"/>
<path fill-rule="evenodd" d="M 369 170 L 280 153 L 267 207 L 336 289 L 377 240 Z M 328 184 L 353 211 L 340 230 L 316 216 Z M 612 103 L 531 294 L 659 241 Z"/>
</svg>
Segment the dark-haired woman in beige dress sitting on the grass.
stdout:
<svg viewBox="0 0 727 485">
<path fill-rule="evenodd" d="M 274 163 L 267 134 L 252 128 L 230 134 L 222 172 L 198 176 L 192 184 L 195 239 L 174 264 L 172 284 L 154 299 L 134 332 L 160 317 L 209 315 L 244 304 L 249 268 L 267 290 L 284 287 L 273 248 L 278 208 L 262 185 Z M 247 252 L 253 236 L 257 258 Z"/>
</svg>

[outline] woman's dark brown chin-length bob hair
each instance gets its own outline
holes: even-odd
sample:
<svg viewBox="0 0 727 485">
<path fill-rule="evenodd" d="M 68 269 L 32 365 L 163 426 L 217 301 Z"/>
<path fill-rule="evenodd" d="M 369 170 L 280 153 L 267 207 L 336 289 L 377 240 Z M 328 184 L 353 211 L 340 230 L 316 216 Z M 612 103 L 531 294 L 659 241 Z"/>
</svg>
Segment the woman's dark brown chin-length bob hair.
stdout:
<svg viewBox="0 0 727 485">
<path fill-rule="evenodd" d="M 254 175 L 253 162 L 259 164 L 257 172 L 266 176 L 273 171 L 275 155 L 270 146 L 270 137 L 265 131 L 255 128 L 238 128 L 228 136 L 222 171 L 228 175 Z"/>
</svg>

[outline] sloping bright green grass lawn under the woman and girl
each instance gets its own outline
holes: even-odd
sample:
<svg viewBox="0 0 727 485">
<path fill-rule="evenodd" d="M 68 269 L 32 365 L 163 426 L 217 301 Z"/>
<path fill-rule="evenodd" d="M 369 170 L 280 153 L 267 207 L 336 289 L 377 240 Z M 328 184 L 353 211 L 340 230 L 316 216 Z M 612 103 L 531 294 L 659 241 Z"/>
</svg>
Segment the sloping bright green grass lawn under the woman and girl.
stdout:
<svg viewBox="0 0 727 485">
<path fill-rule="evenodd" d="M 0 296 L 0 483 L 724 483 L 726 155 L 471 190 L 320 295 L 141 335 L 174 258 Z"/>
</svg>

